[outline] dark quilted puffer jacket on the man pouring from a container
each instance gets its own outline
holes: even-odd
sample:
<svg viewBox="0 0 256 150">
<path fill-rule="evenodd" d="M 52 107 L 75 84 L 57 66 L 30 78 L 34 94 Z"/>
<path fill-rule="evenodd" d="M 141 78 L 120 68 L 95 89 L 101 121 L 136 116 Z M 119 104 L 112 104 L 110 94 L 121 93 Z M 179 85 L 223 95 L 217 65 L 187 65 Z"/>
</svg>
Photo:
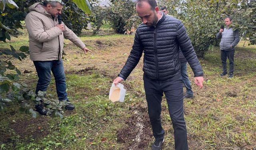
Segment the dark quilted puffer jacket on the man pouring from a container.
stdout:
<svg viewBox="0 0 256 150">
<path fill-rule="evenodd" d="M 119 77 L 126 80 L 144 52 L 144 74 L 151 79 L 167 80 L 180 72 L 179 47 L 194 76 L 203 76 L 202 67 L 182 22 L 164 13 L 162 15 L 156 26 L 148 27 L 143 23 L 138 26 L 132 50 Z"/>
</svg>

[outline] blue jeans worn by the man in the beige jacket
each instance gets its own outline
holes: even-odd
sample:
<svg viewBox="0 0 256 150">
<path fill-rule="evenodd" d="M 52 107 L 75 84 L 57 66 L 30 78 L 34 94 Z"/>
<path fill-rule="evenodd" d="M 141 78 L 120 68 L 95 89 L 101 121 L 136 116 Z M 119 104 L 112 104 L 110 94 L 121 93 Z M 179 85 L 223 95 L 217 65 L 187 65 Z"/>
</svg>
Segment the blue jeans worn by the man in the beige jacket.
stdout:
<svg viewBox="0 0 256 150">
<path fill-rule="evenodd" d="M 55 78 L 56 91 L 59 100 L 67 100 L 66 78 L 62 60 L 33 61 L 38 75 L 36 94 L 38 91 L 46 91 L 51 81 L 51 71 Z"/>
</svg>

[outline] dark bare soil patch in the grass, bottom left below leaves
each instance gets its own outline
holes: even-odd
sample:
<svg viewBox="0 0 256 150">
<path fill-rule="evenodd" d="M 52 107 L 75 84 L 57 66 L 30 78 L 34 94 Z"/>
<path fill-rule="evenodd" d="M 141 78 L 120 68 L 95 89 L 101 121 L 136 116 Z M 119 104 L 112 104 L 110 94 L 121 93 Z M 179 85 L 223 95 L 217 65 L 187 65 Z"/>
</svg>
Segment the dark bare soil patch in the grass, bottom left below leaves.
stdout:
<svg viewBox="0 0 256 150">
<path fill-rule="evenodd" d="M 0 141 L 7 144 L 15 142 L 14 137 L 15 139 L 27 141 L 44 138 L 50 133 L 50 127 L 47 124 L 48 120 L 48 117 L 40 117 L 40 119 L 21 118 L 18 121 L 10 122 L 8 129 L 2 129 L 5 131 L 10 130 L 10 133 L 2 132 L 4 134 L 0 136 Z"/>
</svg>

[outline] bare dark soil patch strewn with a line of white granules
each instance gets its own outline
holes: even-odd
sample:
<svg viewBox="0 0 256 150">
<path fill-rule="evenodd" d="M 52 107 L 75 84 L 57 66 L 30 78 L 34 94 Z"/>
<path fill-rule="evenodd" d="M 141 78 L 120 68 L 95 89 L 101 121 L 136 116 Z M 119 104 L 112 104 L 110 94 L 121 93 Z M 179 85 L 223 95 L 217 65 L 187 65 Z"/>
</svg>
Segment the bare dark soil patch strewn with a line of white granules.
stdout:
<svg viewBox="0 0 256 150">
<path fill-rule="evenodd" d="M 116 132 L 117 142 L 124 143 L 124 150 L 147 149 L 147 145 L 153 136 L 147 108 L 138 105 L 131 109 L 134 113 L 125 122 L 127 128 Z"/>
</svg>

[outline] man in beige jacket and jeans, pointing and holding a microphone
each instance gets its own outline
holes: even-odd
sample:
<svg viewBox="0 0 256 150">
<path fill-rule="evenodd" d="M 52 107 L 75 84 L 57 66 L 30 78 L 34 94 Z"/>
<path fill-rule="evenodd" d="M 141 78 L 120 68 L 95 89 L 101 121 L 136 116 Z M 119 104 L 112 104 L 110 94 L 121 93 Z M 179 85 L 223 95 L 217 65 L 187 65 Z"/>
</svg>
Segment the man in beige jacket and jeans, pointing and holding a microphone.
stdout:
<svg viewBox="0 0 256 150">
<path fill-rule="evenodd" d="M 64 38 L 81 48 L 84 53 L 91 52 L 84 43 L 65 24 L 58 24 L 58 15 L 61 14 L 64 3 L 61 0 L 44 0 L 29 7 L 25 23 L 29 34 L 30 59 L 34 62 L 38 74 L 38 91 L 46 91 L 51 80 L 51 71 L 56 82 L 56 91 L 60 101 L 68 100 L 66 93 L 66 79 L 62 62 Z M 69 103 L 67 110 L 74 109 Z M 42 104 L 36 105 L 36 110 L 46 115 Z"/>
</svg>

